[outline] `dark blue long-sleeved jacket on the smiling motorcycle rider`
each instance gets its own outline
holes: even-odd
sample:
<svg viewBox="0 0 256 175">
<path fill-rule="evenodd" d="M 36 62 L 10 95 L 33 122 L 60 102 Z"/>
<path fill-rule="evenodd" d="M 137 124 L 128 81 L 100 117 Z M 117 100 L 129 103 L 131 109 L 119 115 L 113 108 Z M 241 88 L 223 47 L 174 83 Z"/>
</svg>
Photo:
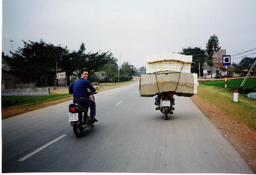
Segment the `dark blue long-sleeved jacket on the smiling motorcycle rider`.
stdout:
<svg viewBox="0 0 256 175">
<path fill-rule="evenodd" d="M 88 98 L 88 89 L 90 89 L 91 92 L 96 91 L 96 89 L 93 87 L 90 81 L 84 78 L 80 78 L 79 80 L 76 80 L 69 86 L 69 93 L 73 94 L 73 96 L 81 96 Z"/>
</svg>

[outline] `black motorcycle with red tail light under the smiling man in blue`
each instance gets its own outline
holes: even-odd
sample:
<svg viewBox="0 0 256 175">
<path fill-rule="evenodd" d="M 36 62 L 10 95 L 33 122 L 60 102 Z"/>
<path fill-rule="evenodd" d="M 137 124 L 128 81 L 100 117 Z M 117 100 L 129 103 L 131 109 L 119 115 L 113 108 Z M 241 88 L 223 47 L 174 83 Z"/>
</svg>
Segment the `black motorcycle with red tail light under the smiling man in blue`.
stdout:
<svg viewBox="0 0 256 175">
<path fill-rule="evenodd" d="M 93 95 L 90 95 L 89 98 L 93 101 L 95 100 Z M 68 108 L 70 112 L 70 126 L 73 126 L 74 134 L 77 137 L 81 137 L 85 128 L 94 126 L 94 122 L 92 122 L 90 116 L 88 116 L 89 107 L 77 103 L 70 103 Z"/>
</svg>

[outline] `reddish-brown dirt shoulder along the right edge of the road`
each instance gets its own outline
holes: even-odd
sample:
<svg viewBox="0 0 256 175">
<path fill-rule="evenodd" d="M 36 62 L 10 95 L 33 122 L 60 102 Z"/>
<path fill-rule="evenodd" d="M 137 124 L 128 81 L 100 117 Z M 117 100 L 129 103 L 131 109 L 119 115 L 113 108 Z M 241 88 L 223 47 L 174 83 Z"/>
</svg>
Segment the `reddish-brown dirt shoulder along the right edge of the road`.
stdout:
<svg viewBox="0 0 256 175">
<path fill-rule="evenodd" d="M 221 111 L 217 106 L 198 95 L 190 98 L 192 102 L 215 125 L 222 135 L 244 157 L 247 164 L 256 172 L 256 132 L 232 116 Z"/>
</svg>

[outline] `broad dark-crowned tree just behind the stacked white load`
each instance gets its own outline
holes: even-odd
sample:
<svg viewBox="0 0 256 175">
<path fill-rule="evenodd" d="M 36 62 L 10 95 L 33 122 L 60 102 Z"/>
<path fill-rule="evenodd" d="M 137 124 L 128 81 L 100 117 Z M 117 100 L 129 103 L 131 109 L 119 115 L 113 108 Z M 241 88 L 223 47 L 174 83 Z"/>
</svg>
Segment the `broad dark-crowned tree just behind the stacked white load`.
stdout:
<svg viewBox="0 0 256 175">
<path fill-rule="evenodd" d="M 195 48 L 183 48 L 182 52 L 180 54 L 183 55 L 192 55 L 192 67 L 191 67 L 191 72 L 197 72 L 198 76 L 199 74 L 199 63 L 200 63 L 200 71 L 203 71 L 202 66 L 204 65 L 205 58 L 207 57 L 205 55 L 205 51 L 201 49 L 200 47 L 195 47 Z M 203 73 L 203 72 L 202 72 Z M 203 75 L 203 74 L 202 74 Z"/>
</svg>

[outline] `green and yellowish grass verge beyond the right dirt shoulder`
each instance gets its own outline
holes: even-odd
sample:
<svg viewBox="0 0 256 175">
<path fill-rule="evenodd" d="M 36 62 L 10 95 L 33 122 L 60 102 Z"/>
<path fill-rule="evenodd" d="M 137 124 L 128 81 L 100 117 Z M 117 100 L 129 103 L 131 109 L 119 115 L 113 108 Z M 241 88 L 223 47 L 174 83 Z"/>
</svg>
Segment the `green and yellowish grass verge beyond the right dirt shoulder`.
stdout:
<svg viewBox="0 0 256 175">
<path fill-rule="evenodd" d="M 255 82 L 253 84 L 255 86 L 256 78 L 251 78 L 251 80 L 252 83 Z M 242 82 L 240 79 L 233 80 L 233 86 L 237 86 L 240 82 Z M 239 94 L 238 102 L 233 102 L 233 90 L 224 89 L 222 88 L 223 85 L 218 86 L 220 83 L 220 81 L 200 83 L 197 95 L 208 100 L 212 105 L 221 109 L 221 111 L 233 116 L 237 121 L 245 123 L 250 128 L 256 130 L 256 100 L 247 98 L 247 94 Z M 248 81 L 249 83 L 251 82 Z"/>
</svg>

